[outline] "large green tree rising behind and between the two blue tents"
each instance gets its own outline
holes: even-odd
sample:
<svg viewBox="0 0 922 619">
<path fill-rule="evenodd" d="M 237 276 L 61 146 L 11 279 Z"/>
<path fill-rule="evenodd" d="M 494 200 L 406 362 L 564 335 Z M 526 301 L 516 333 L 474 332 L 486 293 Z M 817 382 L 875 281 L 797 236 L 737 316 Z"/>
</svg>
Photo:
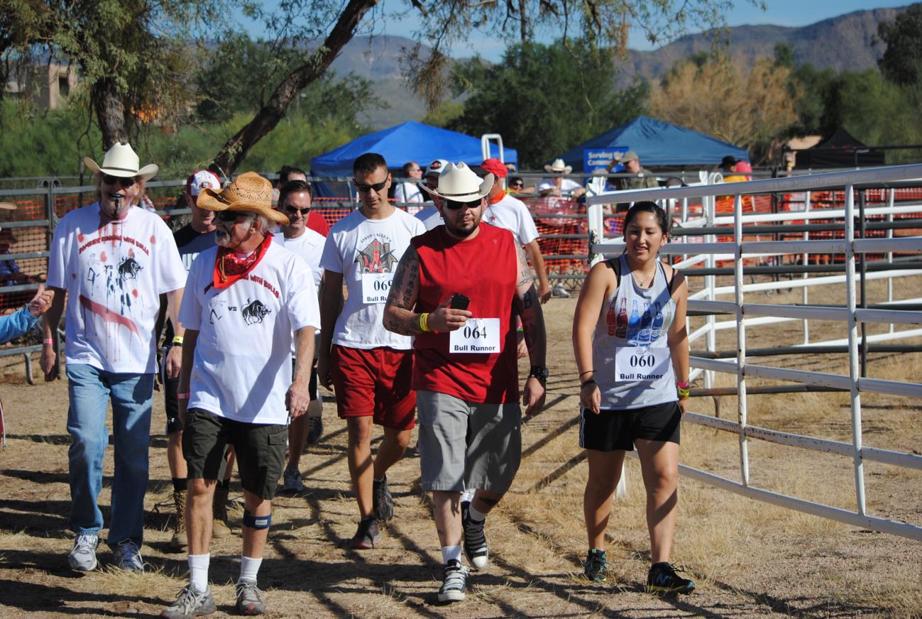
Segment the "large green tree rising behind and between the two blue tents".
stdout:
<svg viewBox="0 0 922 619">
<path fill-rule="evenodd" d="M 472 135 L 500 130 L 535 168 L 643 112 L 646 85 L 616 92 L 613 79 L 611 54 L 589 42 L 516 43 L 497 65 L 458 67 L 456 91 L 470 97 L 448 125 Z"/>
</svg>

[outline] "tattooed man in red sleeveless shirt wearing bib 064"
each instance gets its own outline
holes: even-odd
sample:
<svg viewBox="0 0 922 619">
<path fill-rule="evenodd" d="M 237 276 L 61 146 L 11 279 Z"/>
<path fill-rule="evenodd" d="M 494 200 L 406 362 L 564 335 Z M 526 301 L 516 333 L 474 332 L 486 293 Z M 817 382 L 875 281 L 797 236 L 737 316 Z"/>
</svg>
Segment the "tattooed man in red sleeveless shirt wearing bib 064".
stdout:
<svg viewBox="0 0 922 619">
<path fill-rule="evenodd" d="M 515 315 L 531 360 L 526 415 L 544 405 L 544 317 L 525 251 L 512 232 L 481 222 L 493 175 L 449 163 L 429 190 L 444 225 L 413 239 L 400 259 L 384 325 L 415 336 L 412 386 L 420 414 L 422 487 L 444 561 L 439 601 L 467 588 L 462 544 L 475 569 L 489 558 L 484 519 L 512 485 L 522 452 Z M 469 504 L 461 492 L 477 489 Z"/>
</svg>

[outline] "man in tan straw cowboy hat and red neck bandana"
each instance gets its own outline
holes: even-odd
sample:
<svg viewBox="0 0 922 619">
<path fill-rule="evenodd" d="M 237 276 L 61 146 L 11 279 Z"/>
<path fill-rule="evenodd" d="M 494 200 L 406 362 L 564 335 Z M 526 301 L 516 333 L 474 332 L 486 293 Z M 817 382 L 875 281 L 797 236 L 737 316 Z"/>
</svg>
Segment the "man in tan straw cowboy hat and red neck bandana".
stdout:
<svg viewBox="0 0 922 619">
<path fill-rule="evenodd" d="M 185 327 L 178 395 L 189 480 L 189 584 L 160 616 L 215 611 L 208 545 L 228 444 L 237 454 L 244 504 L 237 610 L 261 614 L 266 601 L 256 577 L 285 463 L 287 425 L 310 401 L 311 363 L 298 363 L 292 377 L 292 332 L 298 359 L 313 359 L 317 293 L 311 269 L 272 242 L 270 225 L 286 218 L 272 208 L 272 184 L 265 178 L 248 172 L 223 190 L 204 189 L 198 206 L 217 211 L 219 246 L 195 258 L 179 315 Z"/>
</svg>

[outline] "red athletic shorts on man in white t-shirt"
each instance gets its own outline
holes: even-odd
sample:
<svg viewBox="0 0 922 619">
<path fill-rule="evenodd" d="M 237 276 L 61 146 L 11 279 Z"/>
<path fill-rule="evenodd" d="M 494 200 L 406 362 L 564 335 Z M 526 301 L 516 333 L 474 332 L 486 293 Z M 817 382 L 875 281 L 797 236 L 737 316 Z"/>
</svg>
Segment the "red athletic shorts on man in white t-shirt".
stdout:
<svg viewBox="0 0 922 619">
<path fill-rule="evenodd" d="M 415 425 L 416 391 L 410 388 L 413 351 L 366 351 L 335 344 L 331 361 L 341 419 L 373 416 L 374 423 L 395 430 Z"/>
</svg>

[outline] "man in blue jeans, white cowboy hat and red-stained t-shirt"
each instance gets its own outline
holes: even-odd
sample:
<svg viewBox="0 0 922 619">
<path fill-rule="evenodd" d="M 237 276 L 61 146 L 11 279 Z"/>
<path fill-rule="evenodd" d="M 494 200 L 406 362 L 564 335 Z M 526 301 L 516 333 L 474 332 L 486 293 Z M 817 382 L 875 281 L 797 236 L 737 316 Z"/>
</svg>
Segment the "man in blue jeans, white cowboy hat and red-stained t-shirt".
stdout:
<svg viewBox="0 0 922 619">
<path fill-rule="evenodd" d="M 114 564 L 143 571 L 144 494 L 148 487 L 148 440 L 157 371 L 155 323 L 160 295 L 177 322 L 185 269 L 170 229 L 157 215 L 137 208 L 156 165 L 140 167 L 126 143 L 109 149 L 102 165 L 85 158 L 96 173 L 98 200 L 67 213 L 54 229 L 48 258 L 48 287 L 54 292 L 45 315 L 41 369 L 45 380 L 58 375 L 56 339 L 67 294 L 66 371 L 70 408 L 67 450 L 70 469 L 70 529 L 77 539 L 68 561 L 74 569 L 96 568 L 102 529 L 97 496 L 102 459 L 109 444 L 106 412 L 112 401 L 115 474 L 112 521 L 107 542 Z M 164 360 L 168 374 L 179 372 L 181 354 Z"/>
</svg>

